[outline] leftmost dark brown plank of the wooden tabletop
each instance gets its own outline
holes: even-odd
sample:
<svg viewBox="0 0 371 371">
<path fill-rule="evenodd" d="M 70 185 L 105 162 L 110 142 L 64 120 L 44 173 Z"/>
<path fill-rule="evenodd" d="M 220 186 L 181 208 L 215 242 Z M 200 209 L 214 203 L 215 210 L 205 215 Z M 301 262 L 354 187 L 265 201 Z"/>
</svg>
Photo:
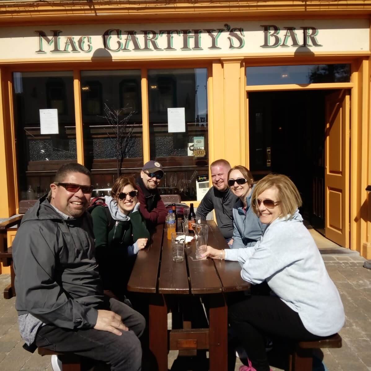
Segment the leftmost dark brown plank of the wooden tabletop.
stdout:
<svg viewBox="0 0 371 371">
<path fill-rule="evenodd" d="M 127 289 L 134 292 L 156 292 L 164 224 L 156 226 L 149 247 L 139 250 Z"/>
</svg>

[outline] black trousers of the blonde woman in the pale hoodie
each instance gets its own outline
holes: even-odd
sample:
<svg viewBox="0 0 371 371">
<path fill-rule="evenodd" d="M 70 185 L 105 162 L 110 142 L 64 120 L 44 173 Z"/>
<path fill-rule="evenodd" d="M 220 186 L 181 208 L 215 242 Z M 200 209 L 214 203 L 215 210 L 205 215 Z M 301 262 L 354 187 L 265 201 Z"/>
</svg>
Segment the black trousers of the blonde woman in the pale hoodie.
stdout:
<svg viewBox="0 0 371 371">
<path fill-rule="evenodd" d="M 228 321 L 257 371 L 269 371 L 265 335 L 302 341 L 322 338 L 307 331 L 299 314 L 277 296 L 251 295 L 233 303 L 228 306 Z"/>
</svg>

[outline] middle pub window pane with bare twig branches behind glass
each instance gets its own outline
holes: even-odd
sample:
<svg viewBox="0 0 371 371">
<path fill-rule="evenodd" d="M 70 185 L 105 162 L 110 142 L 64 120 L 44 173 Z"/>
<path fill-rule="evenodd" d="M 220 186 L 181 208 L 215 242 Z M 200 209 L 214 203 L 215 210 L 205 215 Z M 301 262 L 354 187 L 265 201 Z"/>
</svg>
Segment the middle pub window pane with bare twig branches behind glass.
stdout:
<svg viewBox="0 0 371 371">
<path fill-rule="evenodd" d="M 81 71 L 81 103 L 84 164 L 92 172 L 95 196 L 112 187 L 117 167 L 131 175 L 143 167 L 140 70 Z M 121 138 L 127 134 L 119 150 L 117 122 L 123 125 Z"/>
</svg>

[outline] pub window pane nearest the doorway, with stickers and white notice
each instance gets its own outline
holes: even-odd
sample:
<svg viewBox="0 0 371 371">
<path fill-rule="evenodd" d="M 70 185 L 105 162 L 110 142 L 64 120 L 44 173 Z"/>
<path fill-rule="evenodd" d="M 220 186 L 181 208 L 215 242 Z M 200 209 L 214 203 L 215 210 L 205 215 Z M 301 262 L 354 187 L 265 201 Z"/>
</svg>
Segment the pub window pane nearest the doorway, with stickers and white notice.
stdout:
<svg viewBox="0 0 371 371">
<path fill-rule="evenodd" d="M 209 165 L 207 69 L 149 70 L 148 101 L 150 157 L 166 173 L 160 193 L 179 193 L 182 201 L 201 199 L 201 192 L 197 197 L 201 183 L 196 180 L 198 175 L 208 175 Z M 176 109 L 180 116 L 174 122 Z"/>
</svg>

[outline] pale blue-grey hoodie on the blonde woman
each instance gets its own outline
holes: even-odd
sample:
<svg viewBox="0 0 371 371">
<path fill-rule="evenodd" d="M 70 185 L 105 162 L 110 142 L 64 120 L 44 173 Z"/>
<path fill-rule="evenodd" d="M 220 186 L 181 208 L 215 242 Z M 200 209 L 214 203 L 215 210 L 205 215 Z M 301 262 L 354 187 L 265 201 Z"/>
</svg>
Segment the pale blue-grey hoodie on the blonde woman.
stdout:
<svg viewBox="0 0 371 371">
<path fill-rule="evenodd" d="M 312 334 L 329 336 L 344 325 L 339 292 L 299 210 L 291 219 L 274 220 L 255 246 L 225 250 L 225 259 L 240 262 L 245 281 L 266 280 Z"/>
</svg>

